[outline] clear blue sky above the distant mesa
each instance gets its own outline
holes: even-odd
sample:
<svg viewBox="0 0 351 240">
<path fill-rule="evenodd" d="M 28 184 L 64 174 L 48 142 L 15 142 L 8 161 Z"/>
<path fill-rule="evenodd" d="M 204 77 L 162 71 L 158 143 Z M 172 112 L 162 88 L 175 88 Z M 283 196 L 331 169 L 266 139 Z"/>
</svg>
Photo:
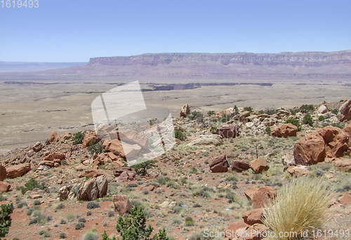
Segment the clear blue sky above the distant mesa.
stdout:
<svg viewBox="0 0 351 240">
<path fill-rule="evenodd" d="M 39 8 L 1 5 L 0 61 L 351 50 L 350 0 L 39 0 Z"/>
</svg>

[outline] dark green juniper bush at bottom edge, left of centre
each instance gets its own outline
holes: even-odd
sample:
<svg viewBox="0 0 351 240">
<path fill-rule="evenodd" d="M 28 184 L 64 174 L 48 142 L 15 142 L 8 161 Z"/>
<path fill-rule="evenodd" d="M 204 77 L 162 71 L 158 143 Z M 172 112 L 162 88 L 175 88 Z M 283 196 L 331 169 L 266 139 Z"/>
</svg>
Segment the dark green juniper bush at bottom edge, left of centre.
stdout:
<svg viewBox="0 0 351 240">
<path fill-rule="evenodd" d="M 146 216 L 143 209 L 138 206 L 131 209 L 130 216 L 126 218 L 119 216 L 116 230 L 121 234 L 121 240 L 168 240 L 164 229 L 150 238 L 154 228 L 151 225 L 146 226 Z"/>
</svg>

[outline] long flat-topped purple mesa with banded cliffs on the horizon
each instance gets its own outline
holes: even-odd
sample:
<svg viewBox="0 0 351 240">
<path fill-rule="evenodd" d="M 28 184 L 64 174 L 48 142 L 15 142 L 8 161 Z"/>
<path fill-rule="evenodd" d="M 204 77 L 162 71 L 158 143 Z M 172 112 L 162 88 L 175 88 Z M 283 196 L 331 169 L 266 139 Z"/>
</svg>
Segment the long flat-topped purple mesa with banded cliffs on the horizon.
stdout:
<svg viewBox="0 0 351 240">
<path fill-rule="evenodd" d="M 340 52 L 155 53 L 95 57 L 84 66 L 46 74 L 86 76 L 230 77 L 258 79 L 351 78 L 351 50 Z"/>
</svg>

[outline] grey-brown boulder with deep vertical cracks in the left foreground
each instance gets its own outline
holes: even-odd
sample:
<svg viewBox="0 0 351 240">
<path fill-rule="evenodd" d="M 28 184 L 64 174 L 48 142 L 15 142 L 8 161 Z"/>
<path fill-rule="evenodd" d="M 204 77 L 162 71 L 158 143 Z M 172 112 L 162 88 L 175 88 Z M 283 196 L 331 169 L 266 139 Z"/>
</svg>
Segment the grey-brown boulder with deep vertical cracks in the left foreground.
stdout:
<svg viewBox="0 0 351 240">
<path fill-rule="evenodd" d="M 79 188 L 78 200 L 93 201 L 107 195 L 107 177 L 105 175 L 84 181 Z"/>
</svg>

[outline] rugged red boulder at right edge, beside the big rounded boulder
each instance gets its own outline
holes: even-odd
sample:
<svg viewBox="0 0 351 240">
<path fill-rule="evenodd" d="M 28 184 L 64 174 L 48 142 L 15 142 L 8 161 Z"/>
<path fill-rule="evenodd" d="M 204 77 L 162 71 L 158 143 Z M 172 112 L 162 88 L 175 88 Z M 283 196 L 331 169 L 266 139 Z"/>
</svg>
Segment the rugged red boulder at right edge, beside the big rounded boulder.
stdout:
<svg viewBox="0 0 351 240">
<path fill-rule="evenodd" d="M 327 126 L 321 132 L 327 157 L 343 157 L 350 153 L 349 136 L 338 127 Z"/>
</svg>

